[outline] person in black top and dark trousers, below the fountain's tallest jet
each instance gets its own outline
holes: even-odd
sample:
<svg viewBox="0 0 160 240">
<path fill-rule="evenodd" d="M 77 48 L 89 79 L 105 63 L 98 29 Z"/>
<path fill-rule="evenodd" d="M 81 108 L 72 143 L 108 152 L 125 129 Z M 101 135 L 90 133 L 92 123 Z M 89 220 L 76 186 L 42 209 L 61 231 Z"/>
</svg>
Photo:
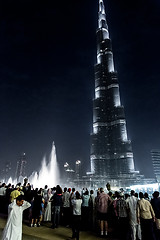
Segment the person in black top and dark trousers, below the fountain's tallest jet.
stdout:
<svg viewBox="0 0 160 240">
<path fill-rule="evenodd" d="M 63 206 L 62 201 L 62 188 L 57 185 L 55 194 L 51 197 L 53 218 L 52 218 L 52 228 L 58 228 L 60 222 L 61 207 Z"/>
</svg>

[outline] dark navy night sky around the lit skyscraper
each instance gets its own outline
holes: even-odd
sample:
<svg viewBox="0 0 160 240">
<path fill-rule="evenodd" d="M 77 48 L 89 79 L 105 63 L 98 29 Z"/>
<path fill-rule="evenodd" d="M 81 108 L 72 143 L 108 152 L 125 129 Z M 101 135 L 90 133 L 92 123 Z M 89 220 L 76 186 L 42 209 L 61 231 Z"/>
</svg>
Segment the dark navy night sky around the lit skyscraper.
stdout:
<svg viewBox="0 0 160 240">
<path fill-rule="evenodd" d="M 160 2 L 104 0 L 136 169 L 160 149 Z M 90 170 L 98 0 L 0 3 L 0 162 L 38 170 L 55 141 L 62 166 Z"/>
</svg>

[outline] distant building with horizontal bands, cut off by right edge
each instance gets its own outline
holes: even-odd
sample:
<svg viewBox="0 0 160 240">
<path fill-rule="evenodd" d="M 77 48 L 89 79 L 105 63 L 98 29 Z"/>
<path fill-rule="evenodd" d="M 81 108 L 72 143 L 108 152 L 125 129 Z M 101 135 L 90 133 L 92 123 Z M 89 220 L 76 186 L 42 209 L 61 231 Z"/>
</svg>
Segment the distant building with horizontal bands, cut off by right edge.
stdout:
<svg viewBox="0 0 160 240">
<path fill-rule="evenodd" d="M 160 149 L 151 150 L 151 159 L 156 180 L 160 182 Z"/>
</svg>

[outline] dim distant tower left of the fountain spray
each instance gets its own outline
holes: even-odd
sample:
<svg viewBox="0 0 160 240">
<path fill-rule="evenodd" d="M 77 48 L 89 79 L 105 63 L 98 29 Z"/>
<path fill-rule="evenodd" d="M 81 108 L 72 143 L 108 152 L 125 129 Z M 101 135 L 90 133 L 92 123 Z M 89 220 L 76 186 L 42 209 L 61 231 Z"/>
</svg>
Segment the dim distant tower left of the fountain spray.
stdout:
<svg viewBox="0 0 160 240">
<path fill-rule="evenodd" d="M 17 161 L 17 168 L 16 168 L 16 179 L 19 179 L 19 177 L 25 177 L 26 176 L 26 154 L 23 153 L 20 156 L 20 159 Z"/>
</svg>

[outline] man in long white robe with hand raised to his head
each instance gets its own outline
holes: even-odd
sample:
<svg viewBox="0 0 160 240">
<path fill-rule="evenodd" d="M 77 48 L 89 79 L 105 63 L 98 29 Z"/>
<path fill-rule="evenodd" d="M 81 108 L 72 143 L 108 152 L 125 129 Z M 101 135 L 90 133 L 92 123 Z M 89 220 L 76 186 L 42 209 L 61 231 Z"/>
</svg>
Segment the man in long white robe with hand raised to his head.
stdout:
<svg viewBox="0 0 160 240">
<path fill-rule="evenodd" d="M 31 204 L 18 196 L 8 207 L 8 219 L 3 230 L 2 240 L 22 240 L 23 211 Z"/>
</svg>

